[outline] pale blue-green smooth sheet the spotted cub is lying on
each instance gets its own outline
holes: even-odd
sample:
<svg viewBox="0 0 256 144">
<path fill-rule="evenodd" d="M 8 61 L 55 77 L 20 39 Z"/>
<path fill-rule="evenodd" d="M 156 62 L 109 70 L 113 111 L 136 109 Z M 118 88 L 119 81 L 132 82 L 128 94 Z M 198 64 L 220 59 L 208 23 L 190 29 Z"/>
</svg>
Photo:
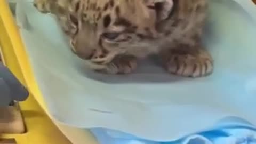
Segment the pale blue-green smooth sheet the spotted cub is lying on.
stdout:
<svg viewBox="0 0 256 144">
<path fill-rule="evenodd" d="M 234 117 L 256 124 L 255 14 L 250 0 L 210 1 L 204 43 L 215 69 L 211 76 L 196 79 L 167 74 L 151 60 L 141 61 L 131 75 L 94 73 L 70 52 L 52 15 L 19 1 L 16 16 L 34 76 L 55 120 L 169 141 L 246 125 Z"/>
</svg>

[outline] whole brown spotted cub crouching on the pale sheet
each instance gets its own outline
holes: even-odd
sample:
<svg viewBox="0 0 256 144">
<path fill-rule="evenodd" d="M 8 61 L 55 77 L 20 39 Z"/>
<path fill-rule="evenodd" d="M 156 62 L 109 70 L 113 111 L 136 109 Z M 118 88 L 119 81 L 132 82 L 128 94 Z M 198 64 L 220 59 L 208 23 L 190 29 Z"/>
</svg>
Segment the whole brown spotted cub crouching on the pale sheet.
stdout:
<svg viewBox="0 0 256 144">
<path fill-rule="evenodd" d="M 201 43 L 207 0 L 34 0 L 59 18 L 73 51 L 95 70 L 131 73 L 158 54 L 167 71 L 206 76 L 213 60 Z"/>
</svg>

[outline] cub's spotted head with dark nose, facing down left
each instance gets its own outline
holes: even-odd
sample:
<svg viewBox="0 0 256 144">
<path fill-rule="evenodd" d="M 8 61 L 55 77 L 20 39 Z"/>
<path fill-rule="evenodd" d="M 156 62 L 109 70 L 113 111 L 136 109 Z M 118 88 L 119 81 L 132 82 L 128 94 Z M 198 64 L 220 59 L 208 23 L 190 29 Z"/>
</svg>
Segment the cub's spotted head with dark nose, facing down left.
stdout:
<svg viewBox="0 0 256 144">
<path fill-rule="evenodd" d="M 82 59 L 103 64 L 119 54 L 142 57 L 154 51 L 148 47 L 158 35 L 156 22 L 166 18 L 172 1 L 78 1 L 75 4 L 78 19 L 73 20 L 78 30 L 71 38 L 74 53 Z"/>
</svg>

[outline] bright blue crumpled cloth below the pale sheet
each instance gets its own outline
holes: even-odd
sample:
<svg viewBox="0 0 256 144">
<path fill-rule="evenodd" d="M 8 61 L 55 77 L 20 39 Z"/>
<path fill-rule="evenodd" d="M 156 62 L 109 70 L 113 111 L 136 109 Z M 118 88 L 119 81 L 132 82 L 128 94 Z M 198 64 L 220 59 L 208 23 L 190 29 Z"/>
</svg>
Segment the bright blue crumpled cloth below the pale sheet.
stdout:
<svg viewBox="0 0 256 144">
<path fill-rule="evenodd" d="M 256 131 L 249 127 L 230 127 L 191 134 L 169 142 L 143 140 L 130 134 L 107 129 L 91 129 L 100 144 L 256 144 Z M 110 133 L 122 135 L 115 137 Z"/>
</svg>

